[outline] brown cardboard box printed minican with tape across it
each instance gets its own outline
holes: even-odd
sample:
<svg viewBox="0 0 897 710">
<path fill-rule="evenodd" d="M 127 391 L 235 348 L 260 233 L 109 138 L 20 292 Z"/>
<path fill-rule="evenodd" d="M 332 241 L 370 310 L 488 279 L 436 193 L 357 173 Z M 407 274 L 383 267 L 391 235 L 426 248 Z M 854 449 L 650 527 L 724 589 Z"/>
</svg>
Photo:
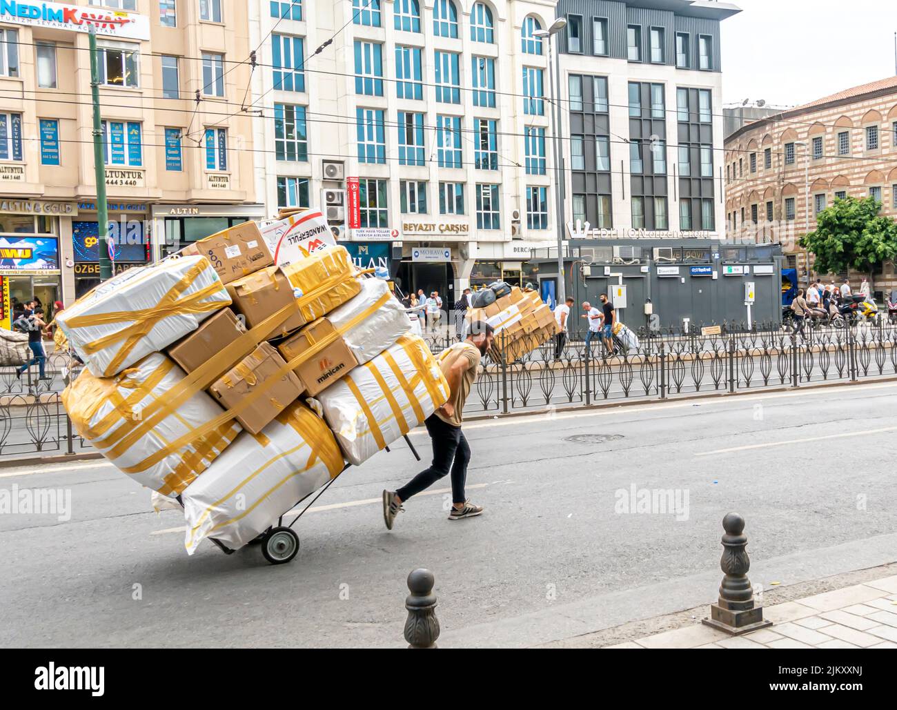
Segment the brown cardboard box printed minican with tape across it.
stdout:
<svg viewBox="0 0 897 710">
<path fill-rule="evenodd" d="M 336 335 L 335 340 L 323 349 L 313 350 L 315 343 L 322 342 L 326 338 L 331 339 L 334 334 L 333 324 L 327 318 L 318 318 L 277 346 L 277 350 L 287 362 L 303 353 L 309 353 L 308 359 L 293 368 L 309 397 L 323 392 L 358 364 L 352 351 L 339 335 Z"/>
</svg>

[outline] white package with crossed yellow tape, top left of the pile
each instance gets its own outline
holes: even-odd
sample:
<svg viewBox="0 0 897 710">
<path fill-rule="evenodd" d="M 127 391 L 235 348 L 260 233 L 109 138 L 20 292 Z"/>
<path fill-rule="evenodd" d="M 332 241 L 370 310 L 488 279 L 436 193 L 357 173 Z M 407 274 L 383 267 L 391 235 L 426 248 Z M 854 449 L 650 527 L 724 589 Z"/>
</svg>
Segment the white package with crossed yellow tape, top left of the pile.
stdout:
<svg viewBox="0 0 897 710">
<path fill-rule="evenodd" d="M 103 281 L 56 321 L 87 368 L 96 377 L 112 377 L 230 305 L 209 260 L 186 256 Z"/>
</svg>

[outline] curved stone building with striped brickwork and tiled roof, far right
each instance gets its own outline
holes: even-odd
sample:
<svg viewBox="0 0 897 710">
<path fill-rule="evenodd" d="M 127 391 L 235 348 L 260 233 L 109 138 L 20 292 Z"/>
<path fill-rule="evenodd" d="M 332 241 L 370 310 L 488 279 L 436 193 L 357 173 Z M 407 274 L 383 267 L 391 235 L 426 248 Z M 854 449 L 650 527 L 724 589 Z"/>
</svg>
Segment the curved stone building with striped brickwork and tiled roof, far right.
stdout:
<svg viewBox="0 0 897 710">
<path fill-rule="evenodd" d="M 797 239 L 815 215 L 846 195 L 874 195 L 897 217 L 897 77 L 863 84 L 729 135 L 725 143 L 727 237 L 779 242 L 806 284 L 807 255 Z M 812 271 L 811 278 L 826 276 Z M 850 274 L 858 285 L 862 274 Z M 897 286 L 893 264 L 875 273 L 875 290 Z"/>
</svg>

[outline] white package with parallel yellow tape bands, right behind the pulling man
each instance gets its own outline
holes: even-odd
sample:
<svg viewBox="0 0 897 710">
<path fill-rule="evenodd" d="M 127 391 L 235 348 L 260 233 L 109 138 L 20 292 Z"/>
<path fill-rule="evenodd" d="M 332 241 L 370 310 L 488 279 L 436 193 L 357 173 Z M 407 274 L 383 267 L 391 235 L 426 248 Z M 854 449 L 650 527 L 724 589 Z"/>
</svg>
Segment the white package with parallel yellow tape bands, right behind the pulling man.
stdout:
<svg viewBox="0 0 897 710">
<path fill-rule="evenodd" d="M 448 382 L 427 344 L 403 335 L 317 401 L 346 460 L 358 465 L 445 404 Z"/>
</svg>

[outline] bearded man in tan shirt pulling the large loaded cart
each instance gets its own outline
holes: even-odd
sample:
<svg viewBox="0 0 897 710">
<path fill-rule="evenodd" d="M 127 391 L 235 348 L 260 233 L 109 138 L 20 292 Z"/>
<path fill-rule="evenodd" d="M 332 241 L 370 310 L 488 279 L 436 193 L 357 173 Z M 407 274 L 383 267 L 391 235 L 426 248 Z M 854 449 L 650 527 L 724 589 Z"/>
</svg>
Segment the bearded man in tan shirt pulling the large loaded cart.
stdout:
<svg viewBox="0 0 897 710">
<path fill-rule="evenodd" d="M 433 412 L 424 424 L 433 446 L 430 467 L 418 473 L 400 489 L 383 491 L 383 522 L 392 530 L 403 504 L 412 496 L 428 489 L 451 473 L 452 507 L 449 520 L 462 520 L 483 513 L 482 506 L 475 506 L 466 498 L 467 463 L 470 462 L 470 446 L 461 423 L 467 394 L 474 385 L 480 359 L 492 346 L 494 331 L 484 321 L 470 324 L 470 333 L 463 342 L 456 342 L 440 353 L 439 363 L 448 380 L 448 402 Z"/>
</svg>

